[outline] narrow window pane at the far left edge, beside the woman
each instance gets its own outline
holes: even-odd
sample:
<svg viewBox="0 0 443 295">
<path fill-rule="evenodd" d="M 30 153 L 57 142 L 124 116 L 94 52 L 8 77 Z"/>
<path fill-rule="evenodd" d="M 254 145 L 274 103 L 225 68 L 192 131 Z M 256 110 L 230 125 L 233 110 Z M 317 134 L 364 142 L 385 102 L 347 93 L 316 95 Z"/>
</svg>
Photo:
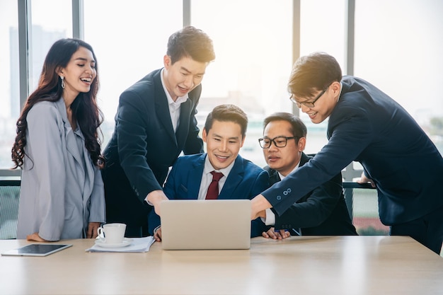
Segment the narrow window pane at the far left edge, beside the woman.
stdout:
<svg viewBox="0 0 443 295">
<path fill-rule="evenodd" d="M 15 121 L 20 112 L 16 1 L 0 2 L 0 169 L 11 168 Z"/>
</svg>

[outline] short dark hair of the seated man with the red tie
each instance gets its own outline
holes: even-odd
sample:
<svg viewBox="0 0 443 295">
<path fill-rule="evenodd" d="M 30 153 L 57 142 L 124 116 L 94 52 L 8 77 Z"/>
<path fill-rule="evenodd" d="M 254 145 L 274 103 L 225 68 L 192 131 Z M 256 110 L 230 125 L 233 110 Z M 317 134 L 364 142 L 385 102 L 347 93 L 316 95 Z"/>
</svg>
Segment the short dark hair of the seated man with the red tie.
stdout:
<svg viewBox="0 0 443 295">
<path fill-rule="evenodd" d="M 206 117 L 205 129 L 209 132 L 212 128 L 214 120 L 219 122 L 234 122 L 240 125 L 241 136 L 246 137 L 246 129 L 248 128 L 248 116 L 241 108 L 236 105 L 217 105 L 217 107 L 209 112 Z"/>
</svg>

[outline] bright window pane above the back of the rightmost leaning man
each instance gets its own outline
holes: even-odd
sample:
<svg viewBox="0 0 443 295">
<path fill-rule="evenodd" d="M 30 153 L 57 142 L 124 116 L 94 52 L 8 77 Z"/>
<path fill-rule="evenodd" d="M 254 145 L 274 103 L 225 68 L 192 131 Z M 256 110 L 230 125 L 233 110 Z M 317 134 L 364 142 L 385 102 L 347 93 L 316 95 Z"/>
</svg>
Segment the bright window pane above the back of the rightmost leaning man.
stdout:
<svg viewBox="0 0 443 295">
<path fill-rule="evenodd" d="M 355 76 L 408 110 L 443 152 L 443 2 L 356 1 Z M 395 16 L 395 17 L 394 17 Z"/>
</svg>

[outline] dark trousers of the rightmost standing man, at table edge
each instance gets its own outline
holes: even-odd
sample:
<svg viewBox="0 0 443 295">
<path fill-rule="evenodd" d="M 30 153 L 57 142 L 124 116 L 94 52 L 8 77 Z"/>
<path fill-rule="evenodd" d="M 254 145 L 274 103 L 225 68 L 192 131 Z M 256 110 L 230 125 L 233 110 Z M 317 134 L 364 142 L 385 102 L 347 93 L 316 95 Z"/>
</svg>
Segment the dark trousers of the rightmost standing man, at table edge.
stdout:
<svg viewBox="0 0 443 295">
<path fill-rule="evenodd" d="M 440 254 L 443 243 L 443 207 L 419 219 L 391 226 L 391 236 L 410 236 Z"/>
</svg>

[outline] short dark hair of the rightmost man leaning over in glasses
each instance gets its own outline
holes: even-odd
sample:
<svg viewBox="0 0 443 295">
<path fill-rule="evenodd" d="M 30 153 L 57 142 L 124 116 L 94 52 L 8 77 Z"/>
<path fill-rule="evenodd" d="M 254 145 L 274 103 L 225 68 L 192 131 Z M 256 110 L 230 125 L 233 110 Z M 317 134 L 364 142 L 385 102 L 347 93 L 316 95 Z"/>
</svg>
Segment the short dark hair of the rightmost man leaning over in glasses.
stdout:
<svg viewBox="0 0 443 295">
<path fill-rule="evenodd" d="M 337 60 L 325 52 L 314 52 L 297 59 L 289 76 L 288 91 L 297 98 L 309 98 L 341 79 Z"/>
</svg>

